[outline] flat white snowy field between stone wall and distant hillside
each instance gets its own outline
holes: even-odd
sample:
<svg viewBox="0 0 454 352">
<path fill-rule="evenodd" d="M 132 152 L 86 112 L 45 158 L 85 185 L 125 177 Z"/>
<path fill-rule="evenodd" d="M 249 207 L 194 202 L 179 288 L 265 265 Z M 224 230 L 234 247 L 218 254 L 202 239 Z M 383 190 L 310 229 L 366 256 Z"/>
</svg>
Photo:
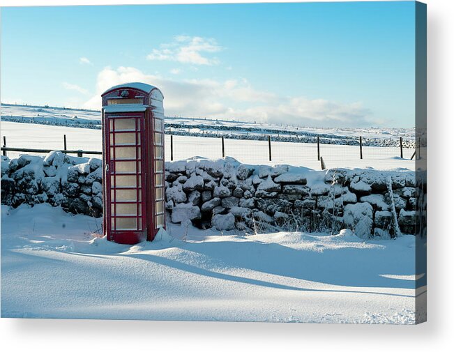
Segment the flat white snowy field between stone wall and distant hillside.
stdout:
<svg viewBox="0 0 454 352">
<path fill-rule="evenodd" d="M 68 149 L 101 151 L 102 136 L 100 130 L 72 128 L 53 125 L 1 122 L 1 136 L 6 136 L 8 146 L 19 148 L 62 149 L 63 135 L 66 135 Z M 272 161 L 268 160 L 268 142 L 245 139 L 225 139 L 225 155 L 248 164 L 292 164 L 311 169 L 320 169 L 317 160 L 317 144 L 290 143 L 273 141 Z M 363 147 L 363 160 L 359 158 L 358 146 L 321 144 L 320 154 L 326 167 L 372 167 L 374 169 L 406 168 L 414 170 L 414 160 L 410 160 L 414 149 L 404 148 L 401 159 L 398 147 Z M 19 153 L 8 152 L 10 158 Z M 42 155 L 42 154 L 41 154 Z M 174 136 L 174 160 L 193 156 L 222 158 L 220 138 Z M 165 157 L 170 160 L 170 136 L 165 136 Z"/>
</svg>

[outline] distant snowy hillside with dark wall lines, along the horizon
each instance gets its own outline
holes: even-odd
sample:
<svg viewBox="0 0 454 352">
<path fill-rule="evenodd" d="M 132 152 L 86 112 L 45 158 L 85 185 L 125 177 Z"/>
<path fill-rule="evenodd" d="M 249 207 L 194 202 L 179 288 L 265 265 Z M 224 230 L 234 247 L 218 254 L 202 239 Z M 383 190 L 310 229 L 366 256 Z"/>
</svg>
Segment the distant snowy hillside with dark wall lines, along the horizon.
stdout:
<svg viewBox="0 0 454 352">
<path fill-rule="evenodd" d="M 1 105 L 3 121 L 39 123 L 82 128 L 100 128 L 100 112 L 95 110 Z M 363 137 L 364 146 L 398 146 L 402 137 L 405 148 L 414 148 L 414 128 L 313 128 L 297 125 L 273 125 L 246 121 L 210 120 L 206 118 L 166 117 L 165 128 L 173 135 L 218 137 L 233 139 L 294 141 L 314 143 L 317 137 L 324 144 L 358 145 Z"/>
</svg>

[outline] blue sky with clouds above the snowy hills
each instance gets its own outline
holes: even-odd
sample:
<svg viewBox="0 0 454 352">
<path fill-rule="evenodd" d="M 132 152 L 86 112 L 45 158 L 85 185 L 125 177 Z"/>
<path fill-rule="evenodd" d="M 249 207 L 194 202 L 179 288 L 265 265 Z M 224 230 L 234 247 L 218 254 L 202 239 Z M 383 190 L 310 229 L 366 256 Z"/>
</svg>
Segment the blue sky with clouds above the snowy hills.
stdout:
<svg viewBox="0 0 454 352">
<path fill-rule="evenodd" d="M 162 89 L 169 116 L 414 126 L 414 2 L 1 10 L 1 101 L 100 108 Z"/>
</svg>

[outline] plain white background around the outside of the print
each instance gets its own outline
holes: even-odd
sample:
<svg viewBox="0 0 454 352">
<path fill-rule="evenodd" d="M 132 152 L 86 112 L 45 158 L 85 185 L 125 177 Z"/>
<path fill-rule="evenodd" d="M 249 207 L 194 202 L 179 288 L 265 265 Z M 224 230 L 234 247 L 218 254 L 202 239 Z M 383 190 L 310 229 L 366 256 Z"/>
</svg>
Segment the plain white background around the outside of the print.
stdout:
<svg viewBox="0 0 454 352">
<path fill-rule="evenodd" d="M 132 3 L 214 1 L 132 1 Z M 244 2 L 244 1 L 218 1 Z M 266 2 L 266 1 L 248 1 Z M 268 1 L 271 2 L 271 1 Z M 283 2 L 283 1 L 272 1 Z M 318 2 L 318 1 L 317 1 Z M 4 351 L 409 351 L 454 347 L 453 126 L 454 1 L 427 0 L 429 270 L 428 322 L 419 326 L 1 319 Z M 0 0 L 1 6 L 107 5 L 125 0 Z M 446 194 L 448 187 L 448 194 Z M 437 208 L 435 208 L 437 206 Z M 451 346 L 451 349 L 449 348 Z"/>
</svg>

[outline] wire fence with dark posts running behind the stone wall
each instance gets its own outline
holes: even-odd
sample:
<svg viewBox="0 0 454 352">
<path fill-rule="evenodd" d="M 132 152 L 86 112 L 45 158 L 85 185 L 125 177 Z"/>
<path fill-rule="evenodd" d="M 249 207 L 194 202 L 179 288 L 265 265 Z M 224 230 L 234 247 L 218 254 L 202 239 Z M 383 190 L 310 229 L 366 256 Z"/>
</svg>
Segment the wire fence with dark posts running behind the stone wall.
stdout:
<svg viewBox="0 0 454 352">
<path fill-rule="evenodd" d="M 11 148 L 40 148 L 42 150 L 102 151 L 102 137 L 99 130 L 84 130 L 73 134 L 75 129 L 64 130 L 64 135 L 23 136 L 11 132 L 6 144 L 3 135 L 3 155 L 17 158 L 24 151 Z M 53 131 L 54 132 L 54 131 Z M 63 132 L 63 130 L 62 130 Z M 67 137 L 68 135 L 68 137 Z M 165 135 L 165 160 L 183 160 L 194 157 L 219 159 L 231 157 L 245 164 L 292 164 L 320 169 L 323 158 L 326 167 L 374 167 L 377 169 L 414 168 L 421 141 L 400 137 L 310 137 L 308 142 L 280 141 L 276 136 L 260 136 L 257 139 L 232 139 L 226 135 L 212 137 Z M 4 148 L 6 147 L 6 148 Z M 69 152 L 68 151 L 68 152 Z M 42 155 L 44 151 L 28 152 Z M 415 158 L 416 153 L 416 158 Z M 88 156 L 88 155 L 84 155 Z"/>
</svg>

